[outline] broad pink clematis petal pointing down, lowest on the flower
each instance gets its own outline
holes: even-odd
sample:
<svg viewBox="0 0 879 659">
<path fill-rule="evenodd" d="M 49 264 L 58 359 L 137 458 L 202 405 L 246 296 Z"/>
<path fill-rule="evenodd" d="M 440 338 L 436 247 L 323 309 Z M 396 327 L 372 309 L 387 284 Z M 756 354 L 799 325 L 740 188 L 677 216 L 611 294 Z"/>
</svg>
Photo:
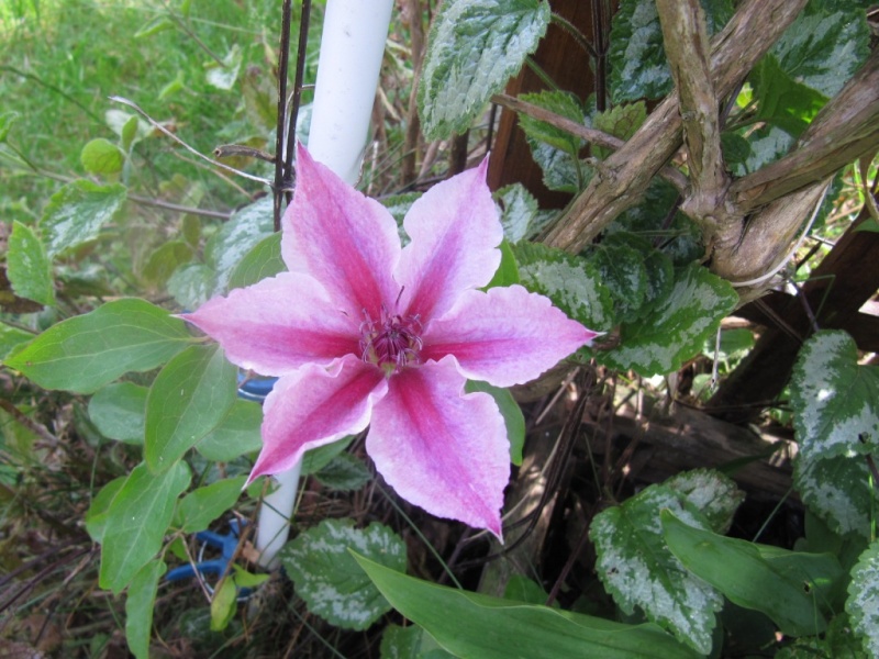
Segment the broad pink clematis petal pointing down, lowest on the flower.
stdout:
<svg viewBox="0 0 879 659">
<path fill-rule="evenodd" d="M 510 479 L 507 428 L 494 400 L 465 395 L 464 383 L 452 359 L 390 378 L 388 395 L 372 412 L 366 450 L 407 501 L 500 538 Z"/>
</svg>

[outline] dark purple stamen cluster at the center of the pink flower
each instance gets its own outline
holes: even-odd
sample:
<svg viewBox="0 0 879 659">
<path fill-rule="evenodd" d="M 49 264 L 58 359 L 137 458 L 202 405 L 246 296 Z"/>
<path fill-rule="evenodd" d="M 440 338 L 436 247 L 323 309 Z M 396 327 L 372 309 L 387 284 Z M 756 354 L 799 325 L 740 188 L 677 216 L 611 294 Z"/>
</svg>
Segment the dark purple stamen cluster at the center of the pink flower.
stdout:
<svg viewBox="0 0 879 659">
<path fill-rule="evenodd" d="M 360 350 L 363 360 L 375 364 L 386 375 L 399 372 L 405 366 L 421 364 L 421 322 L 416 315 L 391 315 L 381 305 L 381 316 L 374 321 L 364 310 L 366 320 L 360 323 Z"/>
</svg>

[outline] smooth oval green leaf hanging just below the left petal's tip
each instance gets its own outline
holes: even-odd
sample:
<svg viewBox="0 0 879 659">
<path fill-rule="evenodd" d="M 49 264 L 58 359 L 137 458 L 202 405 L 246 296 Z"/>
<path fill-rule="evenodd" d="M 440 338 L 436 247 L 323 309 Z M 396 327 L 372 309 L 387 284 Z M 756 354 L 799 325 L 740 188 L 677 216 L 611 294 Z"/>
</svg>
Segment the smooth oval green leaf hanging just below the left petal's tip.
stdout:
<svg viewBox="0 0 879 659">
<path fill-rule="evenodd" d="M 192 346 L 165 365 L 146 399 L 144 457 L 153 471 L 176 463 L 223 421 L 236 376 L 218 346 Z"/>
</svg>

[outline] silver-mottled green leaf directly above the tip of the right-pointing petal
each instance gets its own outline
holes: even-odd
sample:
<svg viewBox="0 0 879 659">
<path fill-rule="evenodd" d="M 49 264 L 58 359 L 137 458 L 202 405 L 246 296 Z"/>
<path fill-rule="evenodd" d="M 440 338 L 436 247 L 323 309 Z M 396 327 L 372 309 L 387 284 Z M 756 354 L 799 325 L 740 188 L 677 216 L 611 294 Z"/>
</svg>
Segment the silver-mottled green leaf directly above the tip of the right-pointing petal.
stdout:
<svg viewBox="0 0 879 659">
<path fill-rule="evenodd" d="M 546 295 L 590 330 L 604 332 L 613 327 L 613 301 L 594 266 L 538 243 L 520 243 L 513 252 L 525 288 Z"/>
</svg>

